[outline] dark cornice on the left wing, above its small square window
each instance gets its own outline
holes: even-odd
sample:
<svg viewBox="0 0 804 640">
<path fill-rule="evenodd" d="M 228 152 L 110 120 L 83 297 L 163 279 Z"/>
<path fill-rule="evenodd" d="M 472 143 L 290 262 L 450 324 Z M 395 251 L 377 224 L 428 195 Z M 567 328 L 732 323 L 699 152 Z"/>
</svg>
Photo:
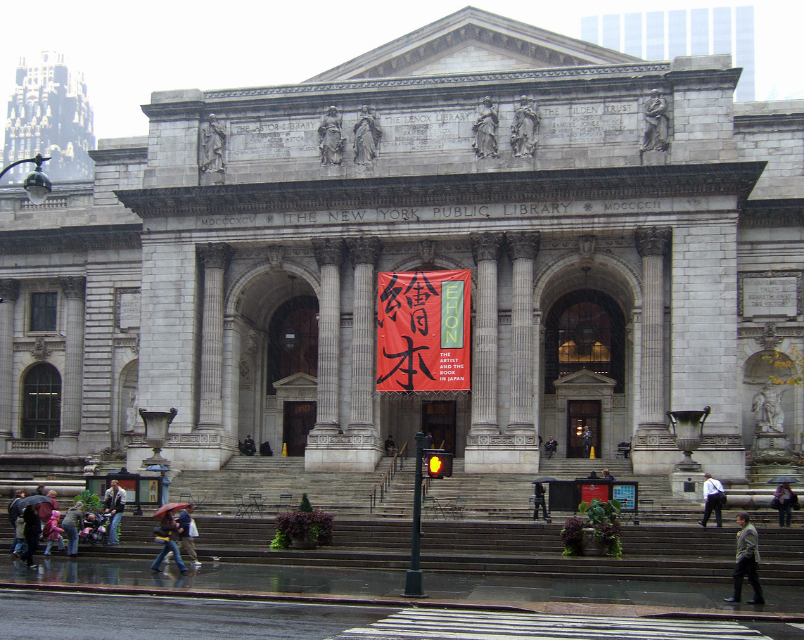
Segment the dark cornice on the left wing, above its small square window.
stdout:
<svg viewBox="0 0 804 640">
<path fill-rule="evenodd" d="M 142 224 L 61 227 L 0 232 L 0 255 L 86 252 L 93 249 L 138 249 Z"/>
</svg>

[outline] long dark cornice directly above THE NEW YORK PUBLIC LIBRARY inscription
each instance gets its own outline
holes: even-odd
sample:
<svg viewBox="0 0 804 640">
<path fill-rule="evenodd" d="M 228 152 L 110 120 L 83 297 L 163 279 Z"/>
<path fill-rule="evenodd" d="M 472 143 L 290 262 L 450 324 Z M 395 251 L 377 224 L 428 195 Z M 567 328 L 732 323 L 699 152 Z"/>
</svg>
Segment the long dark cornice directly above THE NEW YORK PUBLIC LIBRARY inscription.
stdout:
<svg viewBox="0 0 804 640">
<path fill-rule="evenodd" d="M 542 199 L 671 198 L 736 194 L 745 200 L 765 162 L 605 169 L 519 170 L 296 183 L 115 191 L 143 219 L 423 204 L 516 203 Z"/>
</svg>

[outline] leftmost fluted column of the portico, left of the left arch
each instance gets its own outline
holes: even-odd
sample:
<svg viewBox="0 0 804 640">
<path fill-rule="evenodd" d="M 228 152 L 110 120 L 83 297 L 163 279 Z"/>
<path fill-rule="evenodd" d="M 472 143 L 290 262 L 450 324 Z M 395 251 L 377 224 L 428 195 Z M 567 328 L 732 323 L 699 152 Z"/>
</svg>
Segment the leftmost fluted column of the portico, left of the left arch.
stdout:
<svg viewBox="0 0 804 640">
<path fill-rule="evenodd" d="M 232 257 L 228 244 L 199 247 L 203 264 L 201 320 L 201 407 L 199 429 L 224 428 L 224 273 Z"/>
</svg>

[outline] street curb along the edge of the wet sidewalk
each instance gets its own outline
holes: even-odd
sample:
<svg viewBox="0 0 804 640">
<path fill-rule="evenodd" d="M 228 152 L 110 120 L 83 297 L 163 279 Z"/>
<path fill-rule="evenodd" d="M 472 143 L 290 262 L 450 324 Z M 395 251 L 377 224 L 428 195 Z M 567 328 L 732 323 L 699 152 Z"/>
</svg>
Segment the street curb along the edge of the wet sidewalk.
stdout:
<svg viewBox="0 0 804 640">
<path fill-rule="evenodd" d="M 25 584 L 18 582 L 0 581 L 0 589 L 26 590 L 26 591 L 46 591 L 50 593 L 99 593 L 113 594 L 120 596 L 157 596 L 157 597 L 187 597 L 187 598 L 212 598 L 215 600 L 251 600 L 264 602 L 295 602 L 313 605 L 351 605 L 377 608 L 399 608 L 399 609 L 464 609 L 464 610 L 483 610 L 501 611 L 510 613 L 547 613 L 540 612 L 528 607 L 516 605 L 499 605 L 491 602 L 465 602 L 456 600 L 433 600 L 429 597 L 424 598 L 397 598 L 397 597 L 359 597 L 359 596 L 328 596 L 322 594 L 304 595 L 299 593 L 276 593 L 265 591 L 212 591 L 207 589 L 170 589 L 144 587 L 125 587 L 109 585 L 76 585 L 67 587 L 65 585 L 47 584 Z M 533 603 L 534 605 L 536 603 Z M 601 604 L 606 607 L 608 604 Z M 572 615 L 572 614 L 568 614 Z M 623 615 L 622 617 L 634 617 L 638 619 L 662 618 L 676 620 L 736 620 L 750 622 L 804 622 L 804 613 L 785 614 L 785 613 L 741 613 L 724 612 L 709 613 L 695 611 L 673 611 L 663 613 L 645 613 L 636 616 Z"/>
</svg>

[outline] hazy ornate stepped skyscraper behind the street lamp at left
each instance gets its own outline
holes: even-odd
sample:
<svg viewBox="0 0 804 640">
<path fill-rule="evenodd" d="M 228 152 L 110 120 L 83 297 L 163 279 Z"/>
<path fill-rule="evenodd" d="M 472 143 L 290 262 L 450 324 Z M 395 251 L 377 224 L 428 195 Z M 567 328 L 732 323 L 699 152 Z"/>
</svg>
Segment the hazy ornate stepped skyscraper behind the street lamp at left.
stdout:
<svg viewBox="0 0 804 640">
<path fill-rule="evenodd" d="M 92 107 L 84 76 L 70 72 L 64 55 L 43 51 L 38 64 L 20 59 L 6 112 L 2 166 L 37 153 L 51 156 L 44 166 L 53 182 L 92 179 L 95 165 Z M 14 167 L 3 183 L 18 183 L 31 166 Z"/>
</svg>

